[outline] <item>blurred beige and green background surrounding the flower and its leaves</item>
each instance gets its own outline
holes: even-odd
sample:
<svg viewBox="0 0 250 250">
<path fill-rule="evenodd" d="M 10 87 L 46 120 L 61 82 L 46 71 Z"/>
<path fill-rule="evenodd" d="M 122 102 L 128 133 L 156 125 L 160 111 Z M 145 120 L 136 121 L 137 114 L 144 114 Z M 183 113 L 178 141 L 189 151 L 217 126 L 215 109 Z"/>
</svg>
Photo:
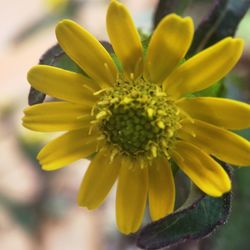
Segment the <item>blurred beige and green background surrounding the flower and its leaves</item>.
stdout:
<svg viewBox="0 0 250 250">
<path fill-rule="evenodd" d="M 157 0 L 124 0 L 137 27 L 150 32 Z M 54 28 L 72 18 L 100 40 L 107 40 L 108 0 L 0 1 L 0 249 L 134 250 L 135 237 L 115 227 L 114 189 L 96 211 L 78 208 L 77 190 L 88 165 L 81 160 L 56 172 L 40 170 L 35 156 L 52 134 L 21 126 L 29 85 L 28 69 L 56 43 Z M 212 1 L 192 1 L 186 14 L 198 24 Z M 244 55 L 226 78 L 226 95 L 250 100 L 250 12 L 237 35 Z M 249 130 L 242 132 L 250 139 Z M 210 238 L 171 249 L 248 250 L 250 245 L 250 169 L 234 171 L 234 201 L 228 223 Z M 178 189 L 178 186 L 177 186 Z"/>
</svg>

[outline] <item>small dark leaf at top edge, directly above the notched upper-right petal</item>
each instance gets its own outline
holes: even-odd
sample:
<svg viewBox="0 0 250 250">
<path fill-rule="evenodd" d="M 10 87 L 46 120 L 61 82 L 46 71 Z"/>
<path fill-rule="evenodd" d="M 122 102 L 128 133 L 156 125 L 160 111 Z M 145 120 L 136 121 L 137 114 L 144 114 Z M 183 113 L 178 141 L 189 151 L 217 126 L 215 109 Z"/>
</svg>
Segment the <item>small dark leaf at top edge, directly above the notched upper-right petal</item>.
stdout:
<svg viewBox="0 0 250 250">
<path fill-rule="evenodd" d="M 153 26 L 154 29 L 158 25 L 158 23 L 161 21 L 163 17 L 170 13 L 176 13 L 181 15 L 183 11 L 187 8 L 187 6 L 190 4 L 191 0 L 159 0 L 158 5 L 156 7 L 155 13 L 154 13 L 154 20 L 153 20 Z"/>
</svg>

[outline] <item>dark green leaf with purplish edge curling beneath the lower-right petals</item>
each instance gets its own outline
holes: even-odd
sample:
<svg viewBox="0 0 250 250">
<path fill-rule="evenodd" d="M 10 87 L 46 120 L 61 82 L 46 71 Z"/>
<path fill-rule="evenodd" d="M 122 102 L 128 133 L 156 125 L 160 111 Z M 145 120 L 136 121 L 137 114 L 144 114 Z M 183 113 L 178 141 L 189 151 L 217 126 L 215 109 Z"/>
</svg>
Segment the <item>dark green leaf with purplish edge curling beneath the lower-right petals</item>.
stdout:
<svg viewBox="0 0 250 250">
<path fill-rule="evenodd" d="M 231 193 L 214 198 L 193 188 L 181 208 L 140 231 L 137 245 L 150 250 L 201 239 L 226 222 L 230 208 Z"/>
</svg>

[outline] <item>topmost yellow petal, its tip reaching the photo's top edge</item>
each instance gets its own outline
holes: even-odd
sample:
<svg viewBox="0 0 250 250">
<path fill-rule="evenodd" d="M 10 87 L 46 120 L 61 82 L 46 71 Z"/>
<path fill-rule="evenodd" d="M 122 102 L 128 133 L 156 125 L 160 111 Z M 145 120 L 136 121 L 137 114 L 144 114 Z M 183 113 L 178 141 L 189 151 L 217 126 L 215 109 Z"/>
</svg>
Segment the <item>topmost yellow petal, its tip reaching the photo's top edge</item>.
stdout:
<svg viewBox="0 0 250 250">
<path fill-rule="evenodd" d="M 111 1 L 106 22 L 112 46 L 127 77 L 137 78 L 143 70 L 143 49 L 127 8 L 118 1 Z"/>
</svg>

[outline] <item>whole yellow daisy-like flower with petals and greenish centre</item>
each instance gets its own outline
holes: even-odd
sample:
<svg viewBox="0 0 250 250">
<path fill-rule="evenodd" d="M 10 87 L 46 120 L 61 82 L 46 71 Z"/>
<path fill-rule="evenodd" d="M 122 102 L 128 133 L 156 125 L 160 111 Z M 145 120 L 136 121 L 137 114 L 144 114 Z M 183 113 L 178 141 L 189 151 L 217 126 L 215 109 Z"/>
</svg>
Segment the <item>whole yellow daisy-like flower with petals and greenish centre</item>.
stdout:
<svg viewBox="0 0 250 250">
<path fill-rule="evenodd" d="M 109 5 L 107 31 L 122 70 L 81 26 L 70 20 L 57 25 L 60 46 L 88 77 L 33 67 L 30 84 L 61 101 L 27 108 L 23 124 L 35 131 L 66 131 L 38 154 L 44 170 L 94 155 L 78 194 L 80 206 L 100 206 L 118 179 L 117 225 L 129 234 L 140 227 L 147 198 L 152 220 L 173 211 L 172 161 L 208 195 L 219 197 L 231 189 L 214 157 L 250 164 L 250 143 L 230 131 L 249 127 L 250 106 L 190 97 L 232 69 L 242 54 L 241 39 L 225 38 L 183 62 L 193 22 L 171 14 L 144 52 L 129 12 L 117 1 Z"/>
</svg>

